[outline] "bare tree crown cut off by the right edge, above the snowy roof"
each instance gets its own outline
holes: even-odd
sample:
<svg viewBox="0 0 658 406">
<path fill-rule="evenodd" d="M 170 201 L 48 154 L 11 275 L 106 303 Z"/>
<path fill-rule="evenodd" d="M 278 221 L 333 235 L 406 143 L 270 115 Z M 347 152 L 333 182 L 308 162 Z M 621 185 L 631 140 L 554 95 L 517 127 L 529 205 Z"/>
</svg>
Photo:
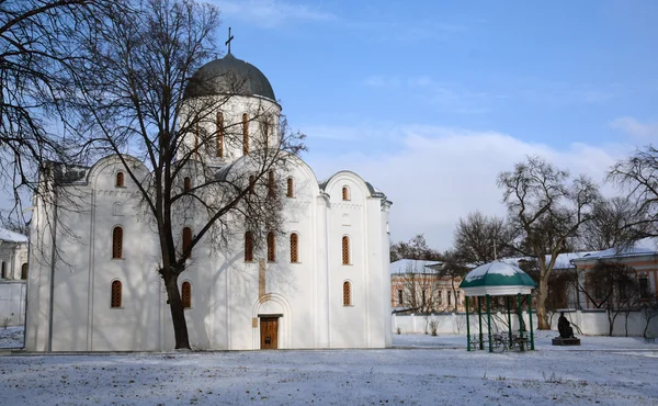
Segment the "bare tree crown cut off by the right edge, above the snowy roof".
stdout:
<svg viewBox="0 0 658 406">
<path fill-rule="evenodd" d="M 658 149 L 653 145 L 636 149 L 615 163 L 608 178 L 635 201 L 637 214 L 624 225 L 633 238 L 658 236 Z"/>
</svg>

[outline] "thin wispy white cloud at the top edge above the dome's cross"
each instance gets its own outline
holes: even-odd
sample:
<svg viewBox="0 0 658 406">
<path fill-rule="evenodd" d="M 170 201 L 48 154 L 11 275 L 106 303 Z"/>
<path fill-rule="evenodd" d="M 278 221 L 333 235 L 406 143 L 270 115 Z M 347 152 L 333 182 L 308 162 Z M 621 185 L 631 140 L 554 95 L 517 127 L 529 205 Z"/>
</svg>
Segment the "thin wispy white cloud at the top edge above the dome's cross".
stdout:
<svg viewBox="0 0 658 406">
<path fill-rule="evenodd" d="M 296 4 L 280 0 L 214 0 L 223 15 L 243 20 L 250 23 L 276 27 L 291 20 L 328 21 L 336 15 L 305 4 Z"/>
</svg>

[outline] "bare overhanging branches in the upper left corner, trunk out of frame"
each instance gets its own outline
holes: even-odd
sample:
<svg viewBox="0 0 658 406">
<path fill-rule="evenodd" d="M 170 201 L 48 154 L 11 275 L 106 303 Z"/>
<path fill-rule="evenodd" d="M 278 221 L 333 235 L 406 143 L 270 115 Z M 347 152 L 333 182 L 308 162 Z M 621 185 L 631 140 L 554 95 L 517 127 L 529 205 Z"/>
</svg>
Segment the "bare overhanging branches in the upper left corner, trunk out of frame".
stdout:
<svg viewBox="0 0 658 406">
<path fill-rule="evenodd" d="M 97 14 L 110 4 L 121 7 L 114 0 L 0 1 L 0 188 L 13 201 L 3 217 L 23 221 L 21 198 L 38 192 L 46 161 L 83 159 L 83 148 L 60 127 L 75 92 L 72 34 L 94 32 Z"/>
</svg>

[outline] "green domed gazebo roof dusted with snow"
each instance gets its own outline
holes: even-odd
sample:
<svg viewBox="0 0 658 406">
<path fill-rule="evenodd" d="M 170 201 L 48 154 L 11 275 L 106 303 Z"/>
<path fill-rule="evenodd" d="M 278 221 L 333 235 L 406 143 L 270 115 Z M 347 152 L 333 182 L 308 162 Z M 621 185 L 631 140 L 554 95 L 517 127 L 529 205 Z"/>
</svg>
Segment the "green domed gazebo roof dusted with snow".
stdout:
<svg viewBox="0 0 658 406">
<path fill-rule="evenodd" d="M 494 261 L 468 272 L 460 284 L 466 296 L 529 294 L 536 284 L 519 267 Z"/>
</svg>

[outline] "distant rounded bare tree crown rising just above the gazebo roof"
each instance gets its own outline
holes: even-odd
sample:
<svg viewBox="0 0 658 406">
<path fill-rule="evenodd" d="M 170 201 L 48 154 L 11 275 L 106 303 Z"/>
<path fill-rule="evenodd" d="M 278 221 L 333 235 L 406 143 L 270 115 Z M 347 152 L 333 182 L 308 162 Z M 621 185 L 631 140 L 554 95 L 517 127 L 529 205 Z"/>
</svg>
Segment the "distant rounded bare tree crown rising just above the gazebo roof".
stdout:
<svg viewBox="0 0 658 406">
<path fill-rule="evenodd" d="M 460 218 L 453 234 L 455 256 L 462 264 L 480 266 L 514 253 L 514 230 L 503 218 L 476 211 Z"/>
</svg>

